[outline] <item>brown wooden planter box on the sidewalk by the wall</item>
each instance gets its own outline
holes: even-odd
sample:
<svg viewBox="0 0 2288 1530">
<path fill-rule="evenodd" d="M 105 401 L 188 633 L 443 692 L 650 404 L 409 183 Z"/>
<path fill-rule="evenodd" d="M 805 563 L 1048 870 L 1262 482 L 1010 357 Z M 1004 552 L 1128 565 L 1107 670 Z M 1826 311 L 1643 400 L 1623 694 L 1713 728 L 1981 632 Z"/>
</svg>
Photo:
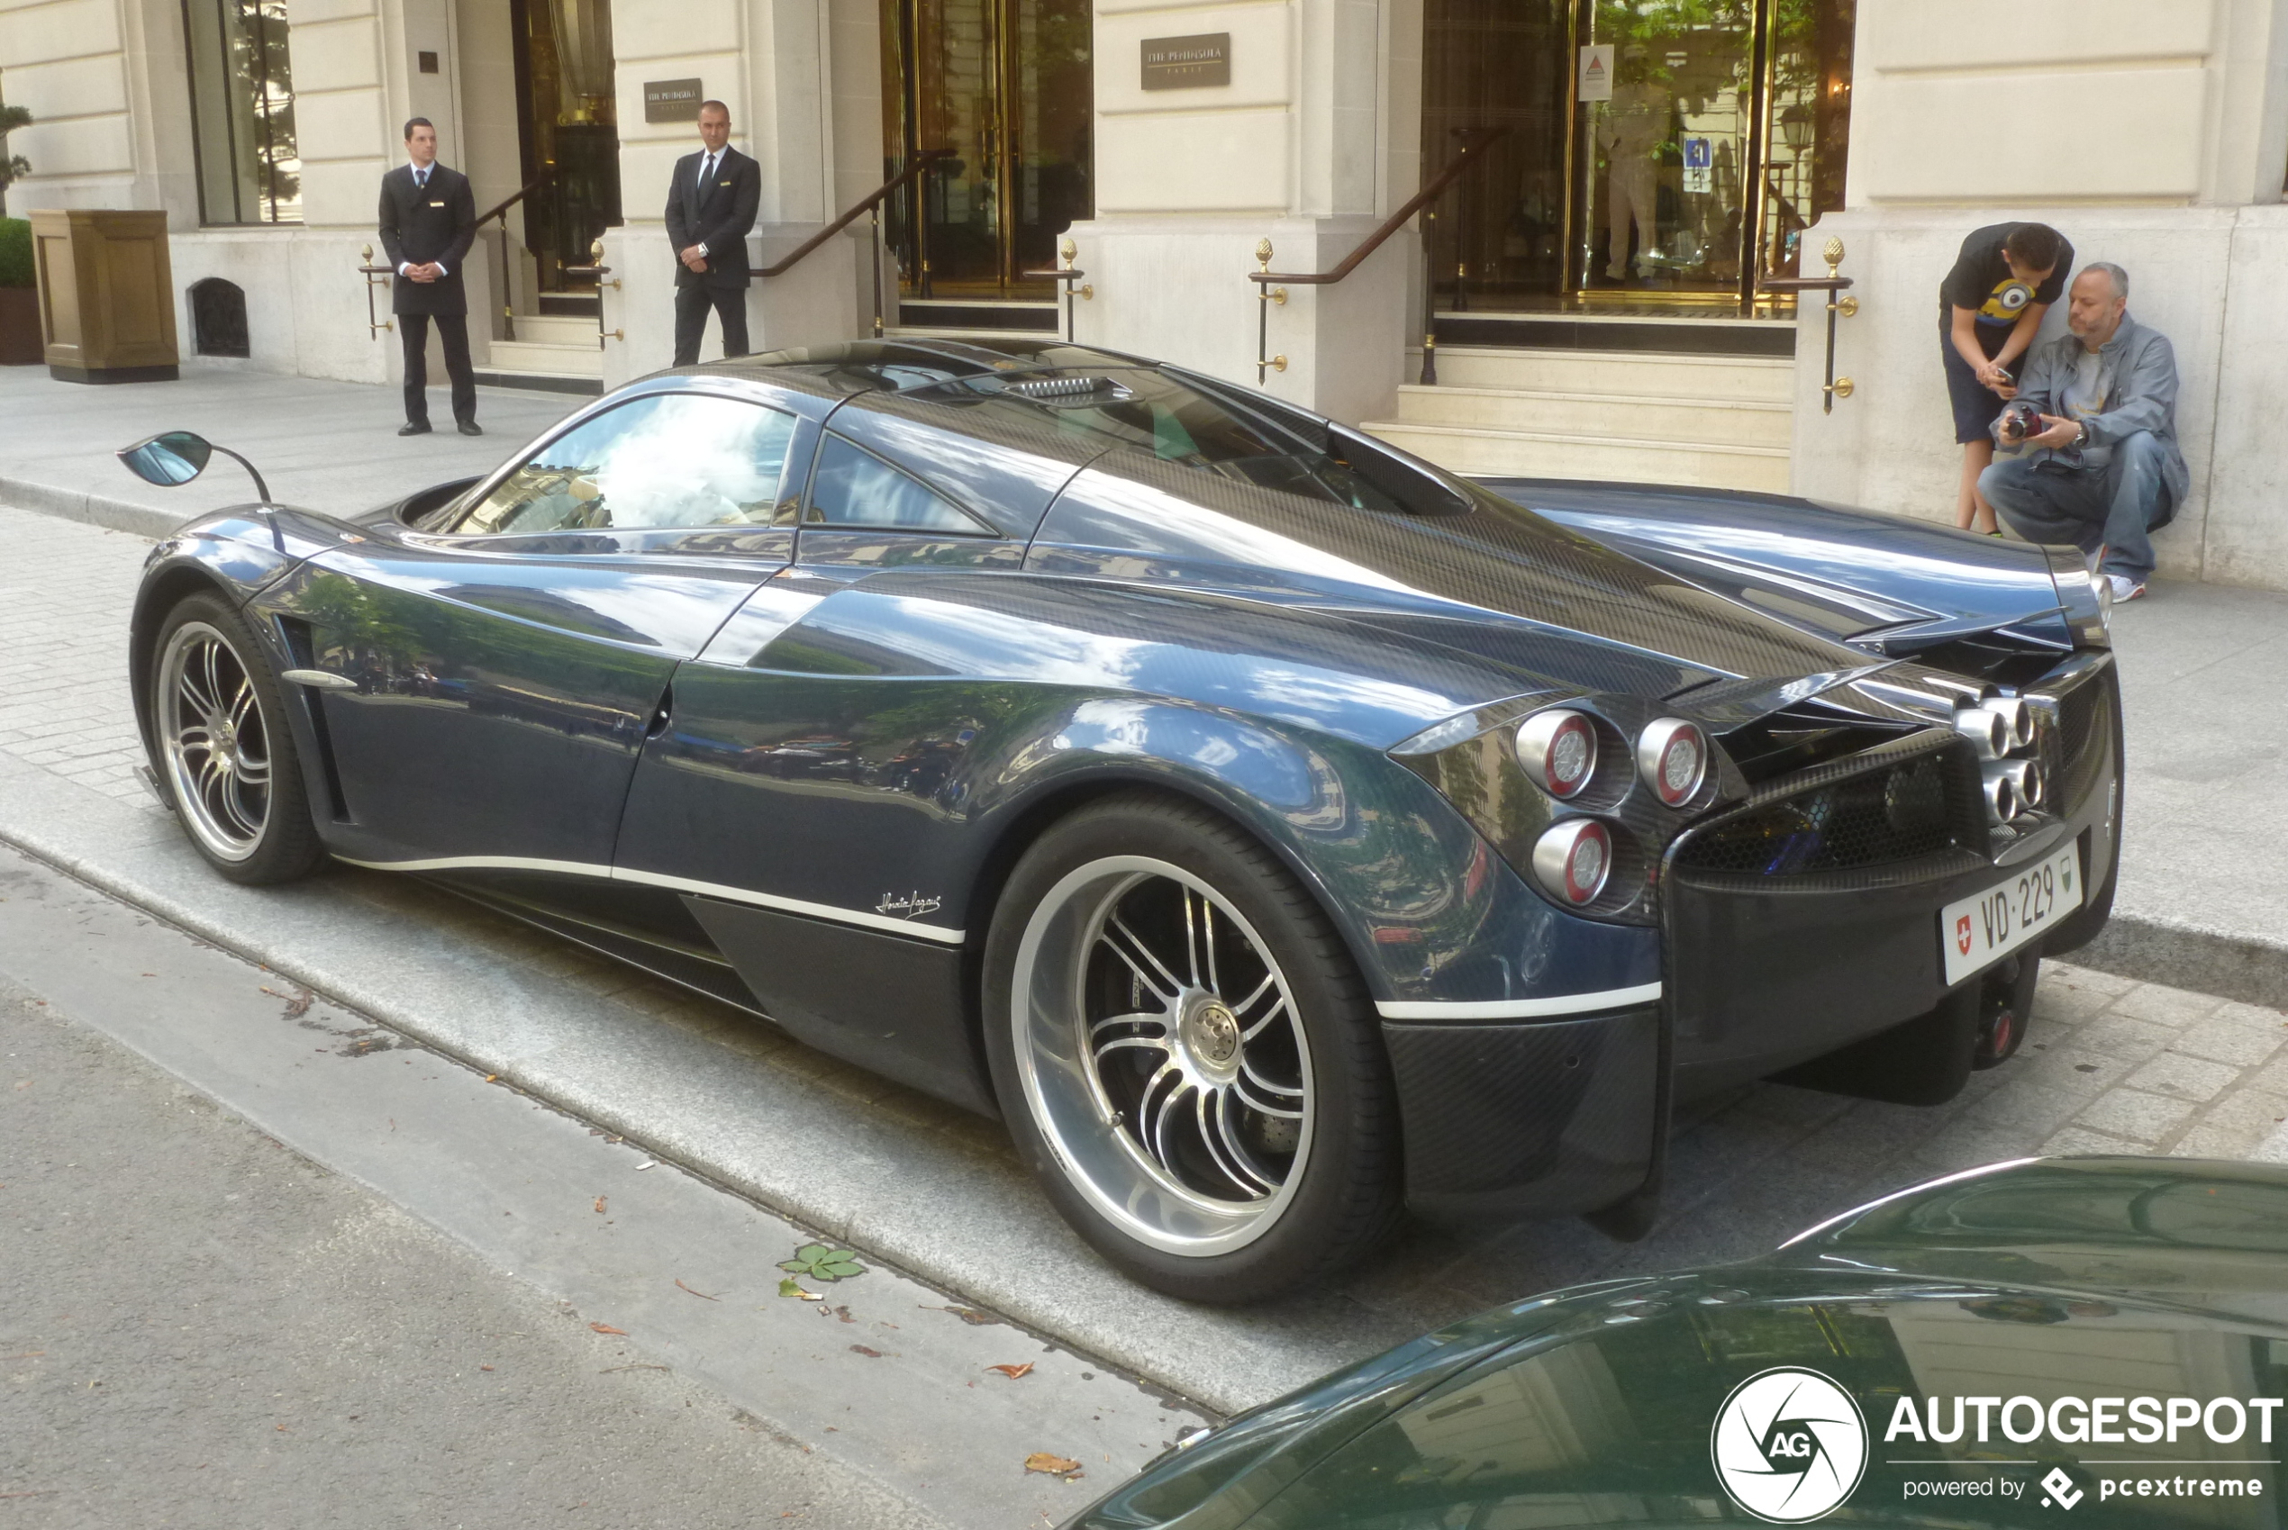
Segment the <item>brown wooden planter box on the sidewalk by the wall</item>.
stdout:
<svg viewBox="0 0 2288 1530">
<path fill-rule="evenodd" d="M 32 272 L 50 377 L 174 382 L 181 354 L 165 213 L 32 213 Z"/>
</svg>

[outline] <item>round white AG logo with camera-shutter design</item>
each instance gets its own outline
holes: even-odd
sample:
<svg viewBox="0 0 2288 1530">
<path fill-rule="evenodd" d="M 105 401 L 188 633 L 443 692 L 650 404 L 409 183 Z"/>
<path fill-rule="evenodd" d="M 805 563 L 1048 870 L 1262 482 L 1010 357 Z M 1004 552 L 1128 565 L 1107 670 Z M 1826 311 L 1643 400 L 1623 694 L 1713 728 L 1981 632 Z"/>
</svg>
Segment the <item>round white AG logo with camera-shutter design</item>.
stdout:
<svg viewBox="0 0 2288 1530">
<path fill-rule="evenodd" d="M 1778 1365 L 1732 1388 L 1709 1429 L 1709 1459 L 1732 1503 L 1775 1525 L 1835 1509 L 1867 1471 L 1867 1420 L 1817 1370 Z"/>
</svg>

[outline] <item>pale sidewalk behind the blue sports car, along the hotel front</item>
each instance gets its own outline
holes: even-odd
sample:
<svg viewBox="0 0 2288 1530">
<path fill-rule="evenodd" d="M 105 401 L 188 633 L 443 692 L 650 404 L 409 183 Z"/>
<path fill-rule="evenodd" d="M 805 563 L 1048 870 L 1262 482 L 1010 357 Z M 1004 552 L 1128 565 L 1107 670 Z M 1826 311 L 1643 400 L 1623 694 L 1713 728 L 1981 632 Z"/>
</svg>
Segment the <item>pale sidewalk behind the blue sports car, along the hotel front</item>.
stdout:
<svg viewBox="0 0 2288 1530">
<path fill-rule="evenodd" d="M 448 419 L 432 389 L 432 419 Z M 217 460 L 158 489 L 119 446 L 190 428 L 238 448 L 281 501 L 366 508 L 485 471 L 586 400 L 480 389 L 490 435 L 400 439 L 394 389 L 185 364 L 181 382 L 80 387 L 0 368 L 0 503 L 165 535 L 249 499 Z M 2114 922 L 2078 961 L 2256 1004 L 2288 1004 L 2288 595 L 2160 583 L 2114 613 L 2128 700 L 2128 810 Z"/>
</svg>

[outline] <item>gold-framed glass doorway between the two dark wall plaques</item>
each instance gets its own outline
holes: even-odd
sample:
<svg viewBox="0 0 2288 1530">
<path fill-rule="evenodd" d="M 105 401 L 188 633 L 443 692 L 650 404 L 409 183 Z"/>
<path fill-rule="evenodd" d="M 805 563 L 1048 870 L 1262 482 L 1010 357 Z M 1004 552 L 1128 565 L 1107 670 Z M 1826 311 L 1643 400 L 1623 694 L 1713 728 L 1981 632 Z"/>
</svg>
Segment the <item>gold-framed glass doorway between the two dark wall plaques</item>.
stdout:
<svg viewBox="0 0 2288 1530">
<path fill-rule="evenodd" d="M 1046 302 L 1057 236 L 1091 215 L 1089 0 L 883 0 L 883 178 L 952 156 L 897 197 L 908 300 Z"/>
</svg>

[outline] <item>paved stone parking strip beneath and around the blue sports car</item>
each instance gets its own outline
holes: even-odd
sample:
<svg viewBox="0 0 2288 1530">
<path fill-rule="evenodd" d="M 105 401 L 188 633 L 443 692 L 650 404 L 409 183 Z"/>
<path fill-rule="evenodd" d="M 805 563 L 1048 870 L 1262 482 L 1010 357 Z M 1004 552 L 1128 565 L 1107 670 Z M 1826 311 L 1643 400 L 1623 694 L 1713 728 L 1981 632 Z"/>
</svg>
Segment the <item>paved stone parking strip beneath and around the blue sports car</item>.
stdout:
<svg viewBox="0 0 2288 1530">
<path fill-rule="evenodd" d="M 206 871 L 133 775 L 133 535 L 0 510 L 0 839 L 499 1073 L 654 1155 L 1213 1409 L 1574 1281 L 1743 1258 L 1846 1205 L 2032 1153 L 2288 1162 L 2288 1018 L 2089 967 L 2043 974 L 2027 1050 L 1947 1107 L 1778 1084 L 1679 1123 L 1640 1244 L 1579 1221 L 1412 1228 L 1343 1283 L 1220 1313 L 1114 1276 L 995 1123 L 410 878 Z M 0 908 L 5 917 L 5 908 Z"/>
</svg>

